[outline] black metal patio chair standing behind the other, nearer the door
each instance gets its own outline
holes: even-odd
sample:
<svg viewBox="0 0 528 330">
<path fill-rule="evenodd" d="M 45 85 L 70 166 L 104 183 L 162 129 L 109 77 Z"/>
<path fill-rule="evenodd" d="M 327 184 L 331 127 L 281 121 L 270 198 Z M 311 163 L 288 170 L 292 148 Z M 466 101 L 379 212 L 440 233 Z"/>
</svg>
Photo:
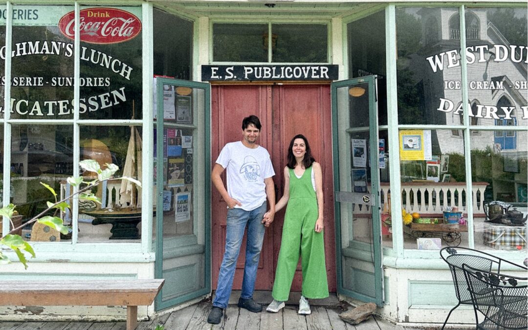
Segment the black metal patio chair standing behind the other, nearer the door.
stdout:
<svg viewBox="0 0 528 330">
<path fill-rule="evenodd" d="M 493 254 L 470 248 L 443 248 L 440 250 L 440 257 L 444 259 L 444 261 L 449 265 L 449 270 L 451 270 L 451 276 L 455 284 L 455 293 L 458 299 L 458 304 L 449 311 L 449 314 L 447 314 L 442 329 L 445 328 L 451 313 L 458 306 L 473 305 L 473 300 L 468 290 L 468 284 L 464 275 L 464 270 L 462 269 L 464 264 L 478 270 L 483 270 L 486 272 L 494 270 L 497 273 L 501 272 L 502 263 L 514 265 L 515 267 L 522 267 L 508 260 L 495 257 Z"/>
</svg>

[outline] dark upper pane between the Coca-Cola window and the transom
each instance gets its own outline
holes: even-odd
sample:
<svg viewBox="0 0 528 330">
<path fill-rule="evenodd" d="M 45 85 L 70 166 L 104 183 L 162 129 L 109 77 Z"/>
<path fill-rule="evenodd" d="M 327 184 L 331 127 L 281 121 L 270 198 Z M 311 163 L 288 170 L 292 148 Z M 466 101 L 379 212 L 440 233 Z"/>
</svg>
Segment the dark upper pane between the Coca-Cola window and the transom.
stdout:
<svg viewBox="0 0 528 330">
<path fill-rule="evenodd" d="M 193 22 L 154 9 L 154 74 L 191 80 L 192 42 Z"/>
</svg>

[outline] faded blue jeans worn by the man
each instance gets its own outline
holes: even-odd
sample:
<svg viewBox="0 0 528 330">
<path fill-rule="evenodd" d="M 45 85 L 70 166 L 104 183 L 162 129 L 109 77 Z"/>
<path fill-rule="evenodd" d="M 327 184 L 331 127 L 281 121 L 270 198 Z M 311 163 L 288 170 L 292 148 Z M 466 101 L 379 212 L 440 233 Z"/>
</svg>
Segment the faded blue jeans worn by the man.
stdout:
<svg viewBox="0 0 528 330">
<path fill-rule="evenodd" d="M 244 279 L 242 280 L 242 294 L 240 297 L 243 299 L 253 297 L 260 250 L 262 250 L 262 241 L 266 229 L 262 223 L 264 213 L 266 213 L 266 202 L 252 211 L 244 211 L 242 209 L 228 210 L 225 253 L 220 266 L 213 306 L 228 307 L 229 296 L 233 287 L 234 271 L 237 266 L 238 254 L 246 227 L 248 227 L 246 262 L 244 264 Z"/>
</svg>

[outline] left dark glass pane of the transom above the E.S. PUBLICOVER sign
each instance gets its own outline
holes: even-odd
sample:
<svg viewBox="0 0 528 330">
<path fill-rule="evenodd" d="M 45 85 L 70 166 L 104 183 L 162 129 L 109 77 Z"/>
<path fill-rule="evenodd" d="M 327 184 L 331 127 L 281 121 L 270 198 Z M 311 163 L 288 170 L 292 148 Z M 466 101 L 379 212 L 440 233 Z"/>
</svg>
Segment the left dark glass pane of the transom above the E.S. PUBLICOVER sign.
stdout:
<svg viewBox="0 0 528 330">
<path fill-rule="evenodd" d="M 268 62 L 268 24 L 213 24 L 213 61 Z"/>
</svg>

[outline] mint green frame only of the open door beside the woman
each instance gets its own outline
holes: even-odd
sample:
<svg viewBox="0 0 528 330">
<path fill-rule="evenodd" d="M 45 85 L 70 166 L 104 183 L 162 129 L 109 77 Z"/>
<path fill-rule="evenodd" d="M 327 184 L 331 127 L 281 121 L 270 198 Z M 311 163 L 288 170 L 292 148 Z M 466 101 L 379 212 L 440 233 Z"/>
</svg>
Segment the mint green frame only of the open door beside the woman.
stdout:
<svg viewBox="0 0 528 330">
<path fill-rule="evenodd" d="M 380 210 L 381 210 L 381 198 L 380 198 L 380 173 L 379 173 L 379 156 L 377 150 L 379 149 L 378 144 L 378 105 L 377 105 L 377 84 L 376 84 L 377 77 L 376 76 L 366 76 L 361 78 L 355 78 L 350 80 L 344 80 L 344 81 L 337 81 L 332 83 L 332 131 L 333 131 L 333 155 L 334 155 L 334 189 L 335 189 L 335 195 L 340 195 L 340 154 L 339 154 L 339 144 L 340 144 L 340 132 L 338 131 L 338 88 L 346 88 L 346 87 L 353 87 L 355 85 L 365 83 L 368 84 L 368 93 L 369 93 L 369 146 L 370 150 L 373 150 L 372 153 L 368 153 L 368 156 L 370 157 L 370 170 L 367 168 L 367 171 L 370 171 L 370 177 L 371 177 L 371 194 L 373 195 L 372 200 L 373 205 L 371 206 L 372 210 L 372 244 L 371 248 L 373 249 L 373 268 L 374 268 L 374 274 L 372 277 L 372 282 L 366 282 L 364 285 L 373 285 L 375 288 L 375 297 L 367 296 L 363 293 L 360 293 L 355 290 L 351 290 L 348 288 L 345 288 L 344 286 L 344 267 L 343 267 L 343 242 L 342 242 L 342 222 L 341 217 L 346 216 L 346 214 L 341 213 L 341 203 L 339 198 L 336 198 L 334 208 L 335 208 L 335 239 L 336 239 L 336 266 L 337 266 L 337 292 L 339 294 L 359 299 L 361 301 L 365 302 L 372 302 L 375 303 L 378 306 L 382 306 L 383 304 L 383 265 L 382 265 L 382 256 L 383 251 L 381 247 L 381 216 L 380 216 Z M 348 93 L 347 93 L 348 95 Z M 351 114 L 353 115 L 353 114 Z M 350 127 L 350 124 L 347 124 Z M 348 139 L 347 143 L 350 146 L 350 135 L 346 134 L 346 138 Z M 346 155 L 342 155 L 341 157 L 347 157 Z M 351 169 L 349 169 L 350 171 Z M 346 188 L 345 188 L 346 190 Z M 351 193 L 343 191 L 344 193 Z M 356 204 L 357 208 L 357 204 Z M 350 223 L 352 221 L 350 220 Z M 359 246 L 366 246 L 368 247 L 368 244 L 364 242 L 357 242 L 357 244 L 354 244 L 352 247 L 352 250 L 354 250 L 354 247 Z M 357 249 L 357 252 L 361 252 L 361 249 Z M 358 258 L 360 259 L 360 258 Z M 362 260 L 365 260 L 363 258 Z M 366 260 L 365 260 L 366 261 Z M 369 260 L 370 261 L 370 260 Z M 346 272 L 346 270 L 345 270 Z M 350 274 L 349 274 L 350 275 Z"/>
</svg>

